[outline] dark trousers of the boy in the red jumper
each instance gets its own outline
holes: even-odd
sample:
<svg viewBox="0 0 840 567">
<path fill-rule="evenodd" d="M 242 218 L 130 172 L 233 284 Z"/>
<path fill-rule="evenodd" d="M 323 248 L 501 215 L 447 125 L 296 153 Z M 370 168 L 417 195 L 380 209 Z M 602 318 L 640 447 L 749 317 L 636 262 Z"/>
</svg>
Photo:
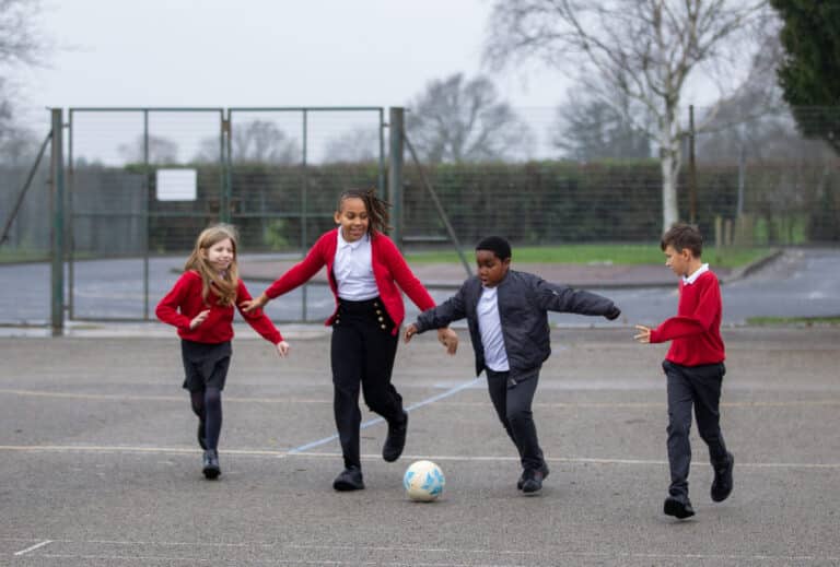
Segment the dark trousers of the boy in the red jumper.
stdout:
<svg viewBox="0 0 840 567">
<path fill-rule="evenodd" d="M 668 381 L 668 464 L 670 496 L 688 497 L 691 466 L 691 409 L 697 417 L 700 438 L 709 447 L 709 460 L 718 468 L 727 461 L 726 444 L 721 433 L 721 386 L 726 367 L 723 363 L 682 366 L 662 363 Z"/>
</svg>

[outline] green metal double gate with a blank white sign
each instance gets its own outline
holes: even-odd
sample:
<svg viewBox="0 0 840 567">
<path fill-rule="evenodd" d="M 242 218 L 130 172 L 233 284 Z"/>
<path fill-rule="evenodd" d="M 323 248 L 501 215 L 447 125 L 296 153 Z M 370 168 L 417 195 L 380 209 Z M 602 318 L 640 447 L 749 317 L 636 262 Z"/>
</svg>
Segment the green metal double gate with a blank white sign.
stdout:
<svg viewBox="0 0 840 567">
<path fill-rule="evenodd" d="M 240 229 L 258 293 L 267 283 L 247 267 L 300 258 L 332 226 L 342 188 L 384 193 L 383 128 L 380 107 L 71 108 L 68 317 L 154 318 L 198 233 L 220 221 Z M 272 302 L 271 318 L 322 317 L 306 287 Z"/>
</svg>

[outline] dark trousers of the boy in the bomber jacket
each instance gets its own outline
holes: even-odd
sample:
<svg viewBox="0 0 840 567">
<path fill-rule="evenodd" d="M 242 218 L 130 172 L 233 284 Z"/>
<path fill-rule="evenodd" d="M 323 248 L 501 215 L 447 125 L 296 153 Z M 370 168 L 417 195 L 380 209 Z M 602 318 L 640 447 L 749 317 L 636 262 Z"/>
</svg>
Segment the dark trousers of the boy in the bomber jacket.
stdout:
<svg viewBox="0 0 840 567">
<path fill-rule="evenodd" d="M 537 470 L 544 464 L 542 449 L 537 439 L 537 426 L 530 410 L 537 391 L 539 370 L 527 374 L 497 373 L 486 368 L 487 388 L 495 414 L 516 446 L 522 468 Z"/>
</svg>

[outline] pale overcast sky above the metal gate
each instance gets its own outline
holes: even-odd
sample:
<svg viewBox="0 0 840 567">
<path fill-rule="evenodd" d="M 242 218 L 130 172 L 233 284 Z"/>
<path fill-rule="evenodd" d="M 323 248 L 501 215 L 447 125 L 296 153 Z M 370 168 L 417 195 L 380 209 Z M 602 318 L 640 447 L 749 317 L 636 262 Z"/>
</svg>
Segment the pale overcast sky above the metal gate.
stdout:
<svg viewBox="0 0 840 567">
<path fill-rule="evenodd" d="M 45 106 L 405 105 L 481 72 L 487 0 L 44 0 Z M 553 106 L 559 72 L 494 74 L 515 106 Z"/>
</svg>

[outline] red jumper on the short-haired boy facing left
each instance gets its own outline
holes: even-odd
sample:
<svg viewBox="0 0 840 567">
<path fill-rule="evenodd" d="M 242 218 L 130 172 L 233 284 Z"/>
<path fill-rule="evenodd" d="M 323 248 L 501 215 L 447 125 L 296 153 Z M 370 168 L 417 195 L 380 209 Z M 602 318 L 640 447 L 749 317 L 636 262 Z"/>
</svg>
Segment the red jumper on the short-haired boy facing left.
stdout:
<svg viewBox="0 0 840 567">
<path fill-rule="evenodd" d="M 672 341 L 667 361 L 684 366 L 716 364 L 726 358 L 721 339 L 721 285 L 708 271 L 692 284 L 679 281 L 677 316 L 651 331 L 652 343 Z"/>
</svg>

